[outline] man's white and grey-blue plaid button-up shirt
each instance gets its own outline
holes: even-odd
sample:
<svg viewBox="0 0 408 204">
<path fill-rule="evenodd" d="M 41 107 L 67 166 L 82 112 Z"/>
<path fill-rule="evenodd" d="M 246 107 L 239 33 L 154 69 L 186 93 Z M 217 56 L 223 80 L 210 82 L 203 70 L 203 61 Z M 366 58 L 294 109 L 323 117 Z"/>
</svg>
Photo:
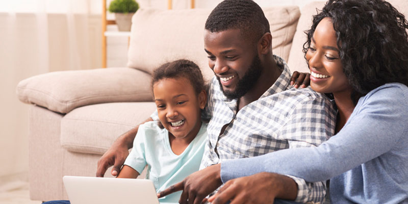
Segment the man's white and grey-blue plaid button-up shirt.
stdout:
<svg viewBox="0 0 408 204">
<path fill-rule="evenodd" d="M 318 146 L 334 134 L 336 112 L 330 101 L 310 87 L 292 88 L 286 62 L 274 58 L 282 74 L 258 100 L 238 112 L 237 100 L 227 99 L 213 78 L 205 113 L 211 117 L 207 129 L 209 142 L 200 168 L 279 149 Z M 295 201 L 323 200 L 325 182 L 308 183 L 290 177 L 298 185 Z"/>
</svg>

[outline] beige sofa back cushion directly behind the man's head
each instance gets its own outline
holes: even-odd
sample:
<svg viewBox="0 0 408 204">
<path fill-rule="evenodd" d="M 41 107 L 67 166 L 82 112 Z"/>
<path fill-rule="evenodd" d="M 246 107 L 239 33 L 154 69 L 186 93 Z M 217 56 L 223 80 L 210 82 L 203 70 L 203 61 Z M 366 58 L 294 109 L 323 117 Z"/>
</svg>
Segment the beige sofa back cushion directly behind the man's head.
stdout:
<svg viewBox="0 0 408 204">
<path fill-rule="evenodd" d="M 272 33 L 276 55 L 288 59 L 300 11 L 297 6 L 263 8 Z M 161 64 L 189 59 L 201 67 L 207 80 L 213 77 L 204 51 L 204 25 L 210 9 L 139 9 L 132 19 L 129 67 L 151 73 Z"/>
</svg>

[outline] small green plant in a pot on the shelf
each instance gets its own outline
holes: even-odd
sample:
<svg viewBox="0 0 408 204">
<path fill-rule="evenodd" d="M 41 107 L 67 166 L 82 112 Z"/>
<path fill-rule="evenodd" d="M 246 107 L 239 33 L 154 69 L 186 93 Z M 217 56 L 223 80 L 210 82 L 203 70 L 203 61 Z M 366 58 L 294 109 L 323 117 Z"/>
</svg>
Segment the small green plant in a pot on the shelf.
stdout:
<svg viewBox="0 0 408 204">
<path fill-rule="evenodd" d="M 115 21 L 119 31 L 131 31 L 132 16 L 139 9 L 135 0 L 113 0 L 109 12 L 115 13 Z"/>
</svg>

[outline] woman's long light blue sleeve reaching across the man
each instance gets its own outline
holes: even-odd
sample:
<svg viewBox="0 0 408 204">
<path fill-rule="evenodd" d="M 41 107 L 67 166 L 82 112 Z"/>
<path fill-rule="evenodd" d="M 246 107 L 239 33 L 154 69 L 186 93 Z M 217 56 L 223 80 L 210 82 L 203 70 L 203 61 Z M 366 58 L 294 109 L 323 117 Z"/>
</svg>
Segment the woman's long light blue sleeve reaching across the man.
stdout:
<svg viewBox="0 0 408 204">
<path fill-rule="evenodd" d="M 406 136 L 407 95 L 406 89 L 392 86 L 372 91 L 360 99 L 343 129 L 320 146 L 226 161 L 221 164 L 221 180 L 264 171 L 301 177 L 308 182 L 340 175 L 384 154 Z"/>
</svg>

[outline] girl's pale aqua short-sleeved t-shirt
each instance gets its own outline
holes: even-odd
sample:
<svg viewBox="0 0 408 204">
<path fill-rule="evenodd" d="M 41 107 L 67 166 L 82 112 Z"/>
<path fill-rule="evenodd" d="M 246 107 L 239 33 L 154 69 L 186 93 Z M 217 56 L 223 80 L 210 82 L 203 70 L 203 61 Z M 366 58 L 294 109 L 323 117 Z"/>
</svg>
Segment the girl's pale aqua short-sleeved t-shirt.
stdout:
<svg viewBox="0 0 408 204">
<path fill-rule="evenodd" d="M 171 150 L 169 132 L 161 129 L 157 121 L 150 121 L 139 126 L 133 142 L 133 149 L 124 165 L 141 173 L 146 165 L 147 179 L 153 181 L 156 191 L 183 181 L 191 173 L 198 171 L 205 144 L 208 140 L 207 123 L 202 122 L 197 136 L 181 155 Z M 179 202 L 180 192 L 159 199 L 160 202 Z"/>
</svg>

